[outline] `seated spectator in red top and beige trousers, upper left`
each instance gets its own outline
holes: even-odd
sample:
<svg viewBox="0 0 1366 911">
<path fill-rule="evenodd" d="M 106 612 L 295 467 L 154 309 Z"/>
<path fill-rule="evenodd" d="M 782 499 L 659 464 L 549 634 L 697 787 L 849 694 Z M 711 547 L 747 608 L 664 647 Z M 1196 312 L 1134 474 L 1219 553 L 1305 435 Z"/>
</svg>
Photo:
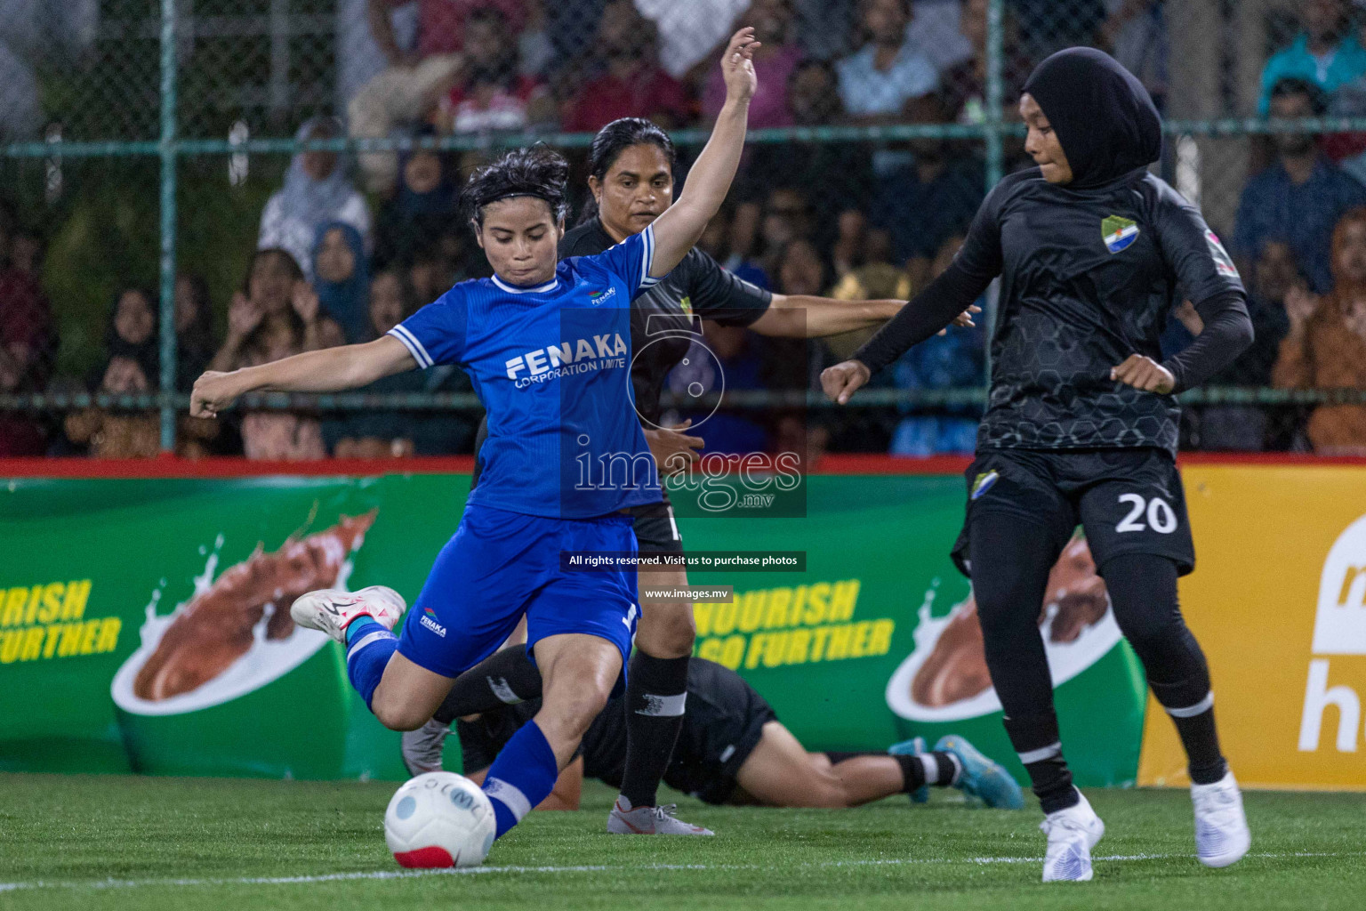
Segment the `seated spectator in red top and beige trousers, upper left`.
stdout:
<svg viewBox="0 0 1366 911">
<path fill-rule="evenodd" d="M 355 138 L 382 138 L 428 120 L 462 66 L 469 31 L 484 11 L 497 11 L 510 34 L 526 26 L 526 0 L 418 0 L 417 46 L 399 46 L 389 10 L 411 0 L 369 0 L 370 33 L 389 67 L 362 87 L 347 105 L 347 126 Z M 366 188 L 388 193 L 398 178 L 392 152 L 359 156 Z"/>
</svg>

